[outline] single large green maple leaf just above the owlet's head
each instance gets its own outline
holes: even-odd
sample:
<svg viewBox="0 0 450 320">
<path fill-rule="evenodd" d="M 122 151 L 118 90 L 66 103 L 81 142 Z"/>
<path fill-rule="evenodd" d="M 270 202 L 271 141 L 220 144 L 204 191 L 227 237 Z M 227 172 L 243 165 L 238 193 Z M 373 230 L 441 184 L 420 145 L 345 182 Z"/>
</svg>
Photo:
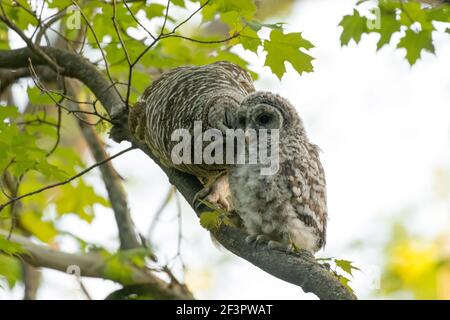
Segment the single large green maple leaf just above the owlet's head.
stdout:
<svg viewBox="0 0 450 320">
<path fill-rule="evenodd" d="M 312 72 L 314 59 L 301 49 L 311 49 L 314 46 L 302 37 L 301 33 L 284 34 L 280 30 L 272 30 L 270 40 L 264 41 L 264 50 L 267 52 L 265 65 L 279 79 L 286 72 L 285 62 L 289 62 L 299 74 Z"/>
</svg>

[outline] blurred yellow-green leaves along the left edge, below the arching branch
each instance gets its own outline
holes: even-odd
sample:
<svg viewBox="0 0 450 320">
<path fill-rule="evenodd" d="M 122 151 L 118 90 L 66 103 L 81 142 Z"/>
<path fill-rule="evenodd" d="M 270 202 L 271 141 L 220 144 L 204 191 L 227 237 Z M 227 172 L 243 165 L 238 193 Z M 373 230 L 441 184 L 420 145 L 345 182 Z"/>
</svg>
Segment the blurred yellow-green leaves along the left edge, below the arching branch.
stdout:
<svg viewBox="0 0 450 320">
<path fill-rule="evenodd" d="M 49 154 L 56 136 L 56 129 L 50 123 L 56 123 L 56 120 L 44 111 L 23 114 L 17 107 L 0 107 L 0 204 L 15 194 L 26 194 L 63 181 L 85 168 L 76 148 L 65 143 L 61 142 Z M 98 204 L 110 206 L 86 177 L 81 177 L 6 207 L 0 211 L 0 229 L 14 228 L 14 232 L 33 236 L 53 246 L 56 237 L 62 234 L 58 228 L 62 216 L 70 214 L 90 223 Z M 21 278 L 21 264 L 14 256 L 23 251 L 16 243 L 0 236 L 0 252 L 3 253 L 0 255 L 0 276 L 12 287 Z"/>
</svg>

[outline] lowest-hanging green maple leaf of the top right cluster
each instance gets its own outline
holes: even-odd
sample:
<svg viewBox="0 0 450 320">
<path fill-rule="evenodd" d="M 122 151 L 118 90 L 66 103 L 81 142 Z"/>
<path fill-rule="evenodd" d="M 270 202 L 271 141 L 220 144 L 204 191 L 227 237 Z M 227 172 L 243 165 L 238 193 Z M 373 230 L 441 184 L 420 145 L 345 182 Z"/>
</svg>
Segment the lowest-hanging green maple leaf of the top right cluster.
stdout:
<svg viewBox="0 0 450 320">
<path fill-rule="evenodd" d="M 406 59 L 410 65 L 414 65 L 420 59 L 423 50 L 435 52 L 431 30 L 414 32 L 408 29 L 397 47 L 406 49 Z"/>
</svg>

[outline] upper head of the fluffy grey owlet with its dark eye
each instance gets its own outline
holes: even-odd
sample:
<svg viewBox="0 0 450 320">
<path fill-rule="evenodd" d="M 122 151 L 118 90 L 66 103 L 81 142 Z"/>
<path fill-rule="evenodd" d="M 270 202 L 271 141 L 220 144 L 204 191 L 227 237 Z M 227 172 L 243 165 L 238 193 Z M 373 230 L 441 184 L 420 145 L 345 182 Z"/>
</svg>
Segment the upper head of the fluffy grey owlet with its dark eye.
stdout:
<svg viewBox="0 0 450 320">
<path fill-rule="evenodd" d="M 271 92 L 257 91 L 248 95 L 236 115 L 237 129 L 279 129 L 304 134 L 304 128 L 294 106 Z"/>
</svg>

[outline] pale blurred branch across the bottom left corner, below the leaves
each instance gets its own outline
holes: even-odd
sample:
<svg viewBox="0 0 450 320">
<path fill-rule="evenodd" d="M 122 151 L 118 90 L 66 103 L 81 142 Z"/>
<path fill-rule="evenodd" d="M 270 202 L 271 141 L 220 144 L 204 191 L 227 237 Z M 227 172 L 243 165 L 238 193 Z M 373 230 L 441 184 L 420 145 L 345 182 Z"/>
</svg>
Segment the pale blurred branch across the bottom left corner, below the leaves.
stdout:
<svg viewBox="0 0 450 320">
<path fill-rule="evenodd" d="M 7 236 L 7 232 L 0 230 L 0 235 Z M 107 260 L 97 253 L 83 255 L 69 254 L 37 245 L 25 237 L 12 235 L 11 241 L 21 244 L 27 253 L 21 257 L 35 267 L 50 268 L 61 272 L 67 272 L 70 266 L 77 266 L 81 276 L 102 278 L 127 285 L 146 285 L 153 289 L 156 299 L 193 299 L 193 297 L 179 286 L 172 286 L 155 277 L 149 270 L 132 268 L 131 277 L 121 277 L 111 272 L 106 272 Z"/>
</svg>

